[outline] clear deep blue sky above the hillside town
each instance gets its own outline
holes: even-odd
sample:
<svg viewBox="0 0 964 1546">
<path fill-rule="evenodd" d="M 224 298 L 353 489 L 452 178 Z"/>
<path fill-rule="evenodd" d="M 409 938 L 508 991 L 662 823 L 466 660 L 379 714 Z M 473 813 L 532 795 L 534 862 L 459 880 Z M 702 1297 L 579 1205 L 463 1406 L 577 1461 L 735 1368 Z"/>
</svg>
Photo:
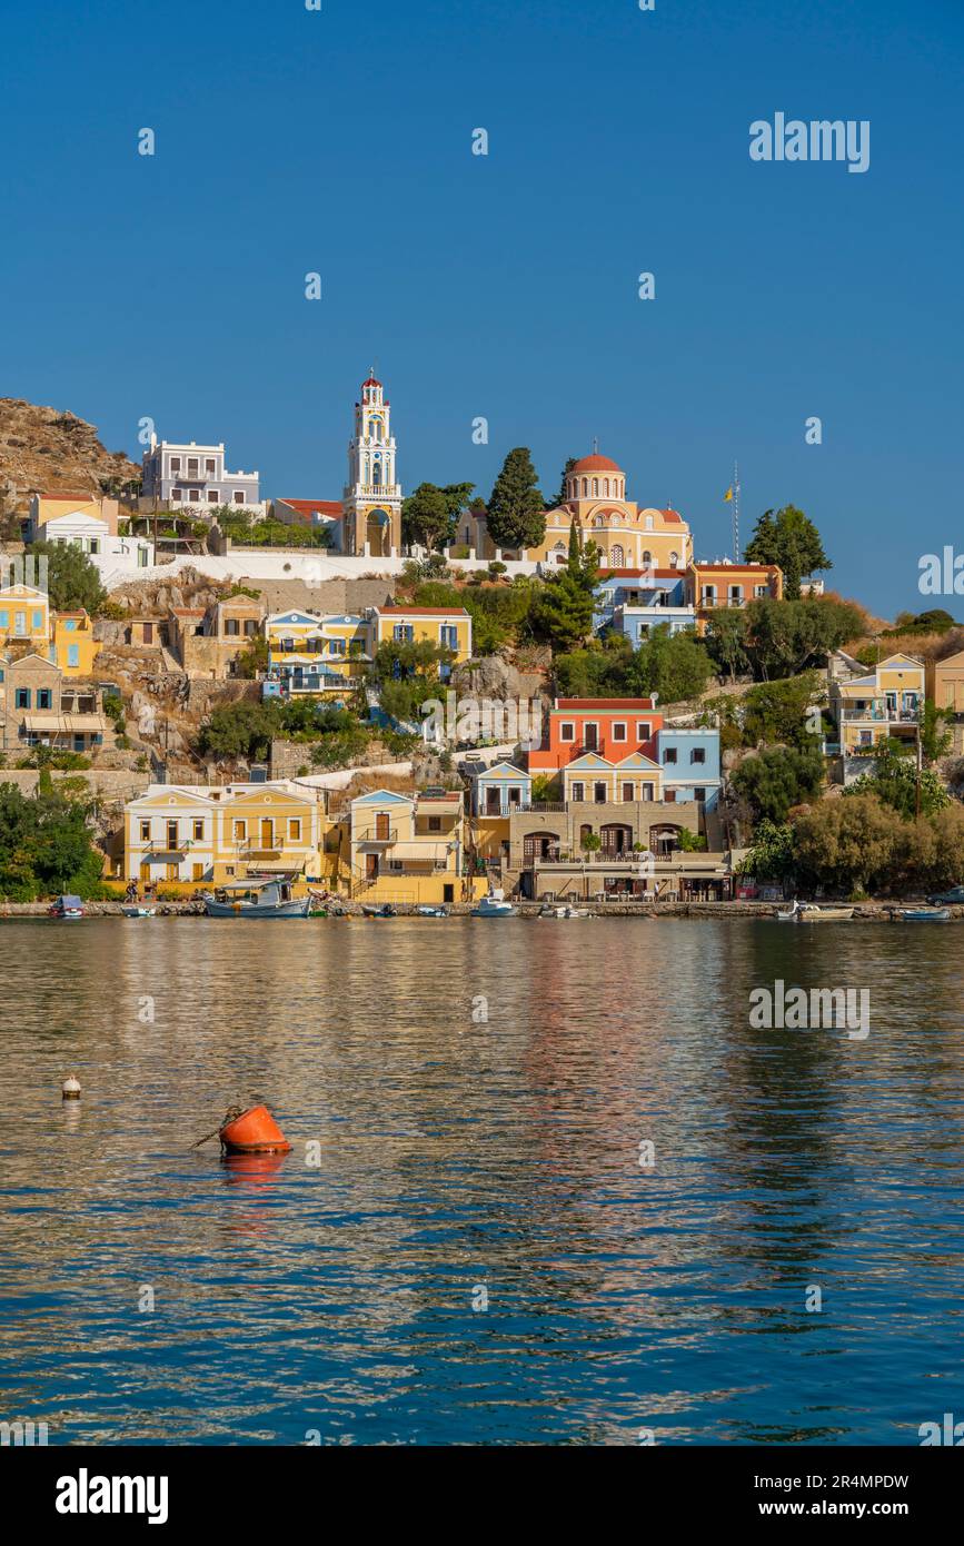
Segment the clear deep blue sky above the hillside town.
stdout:
<svg viewBox="0 0 964 1546">
<path fill-rule="evenodd" d="M 488 495 L 528 445 L 555 493 L 598 436 L 712 558 L 737 456 L 745 535 L 793 501 L 844 592 L 933 604 L 918 557 L 964 547 L 962 54 L 961 0 L 14 0 L 0 394 L 338 498 L 377 360 L 406 490 Z M 776 111 L 870 119 L 870 170 L 751 162 Z"/>
</svg>

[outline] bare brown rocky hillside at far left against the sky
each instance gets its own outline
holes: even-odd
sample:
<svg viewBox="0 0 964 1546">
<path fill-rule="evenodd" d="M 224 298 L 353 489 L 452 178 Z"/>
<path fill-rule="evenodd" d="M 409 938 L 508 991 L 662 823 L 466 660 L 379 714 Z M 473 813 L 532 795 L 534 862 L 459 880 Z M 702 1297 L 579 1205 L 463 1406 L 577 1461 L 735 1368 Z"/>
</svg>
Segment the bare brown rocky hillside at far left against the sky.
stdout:
<svg viewBox="0 0 964 1546">
<path fill-rule="evenodd" d="M 22 397 L 0 397 L 0 507 L 26 507 L 31 493 L 100 493 L 141 468 L 108 451 L 93 424 Z"/>
</svg>

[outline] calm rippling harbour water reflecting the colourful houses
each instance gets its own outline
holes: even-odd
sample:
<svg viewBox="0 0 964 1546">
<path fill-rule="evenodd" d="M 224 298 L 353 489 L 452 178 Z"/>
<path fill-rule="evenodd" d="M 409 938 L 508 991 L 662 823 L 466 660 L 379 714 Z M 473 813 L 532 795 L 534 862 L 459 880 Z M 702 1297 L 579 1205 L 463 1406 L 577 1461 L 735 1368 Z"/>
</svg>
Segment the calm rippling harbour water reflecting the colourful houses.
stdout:
<svg viewBox="0 0 964 1546">
<path fill-rule="evenodd" d="M 961 942 L 3 920 L 0 1418 L 51 1444 L 916 1444 L 964 1416 Z M 868 1039 L 751 1030 L 776 979 L 870 988 Z M 255 1099 L 292 1155 L 190 1150 Z"/>
</svg>

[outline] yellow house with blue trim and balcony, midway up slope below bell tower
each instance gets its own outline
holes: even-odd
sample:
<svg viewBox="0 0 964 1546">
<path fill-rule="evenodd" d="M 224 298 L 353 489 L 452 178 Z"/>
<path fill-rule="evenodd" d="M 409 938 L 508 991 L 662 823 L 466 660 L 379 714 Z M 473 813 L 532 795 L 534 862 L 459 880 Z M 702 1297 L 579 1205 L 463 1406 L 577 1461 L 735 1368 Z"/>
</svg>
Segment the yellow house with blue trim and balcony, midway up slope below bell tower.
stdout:
<svg viewBox="0 0 964 1546">
<path fill-rule="evenodd" d="M 286 696 L 345 694 L 369 665 L 369 626 L 363 617 L 272 612 L 264 635 L 269 683 Z"/>
</svg>

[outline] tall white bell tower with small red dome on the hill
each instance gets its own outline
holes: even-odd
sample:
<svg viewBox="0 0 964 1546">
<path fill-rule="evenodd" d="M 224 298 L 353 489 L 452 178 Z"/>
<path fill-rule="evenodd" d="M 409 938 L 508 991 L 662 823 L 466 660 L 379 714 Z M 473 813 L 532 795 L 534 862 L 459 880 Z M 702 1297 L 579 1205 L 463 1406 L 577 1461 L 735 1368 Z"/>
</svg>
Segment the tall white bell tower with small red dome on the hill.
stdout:
<svg viewBox="0 0 964 1546">
<path fill-rule="evenodd" d="M 345 485 L 346 550 L 372 558 L 397 557 L 402 547 L 402 485 L 395 470 L 391 404 L 374 369 L 355 404 L 355 433 L 348 444 Z"/>
</svg>

